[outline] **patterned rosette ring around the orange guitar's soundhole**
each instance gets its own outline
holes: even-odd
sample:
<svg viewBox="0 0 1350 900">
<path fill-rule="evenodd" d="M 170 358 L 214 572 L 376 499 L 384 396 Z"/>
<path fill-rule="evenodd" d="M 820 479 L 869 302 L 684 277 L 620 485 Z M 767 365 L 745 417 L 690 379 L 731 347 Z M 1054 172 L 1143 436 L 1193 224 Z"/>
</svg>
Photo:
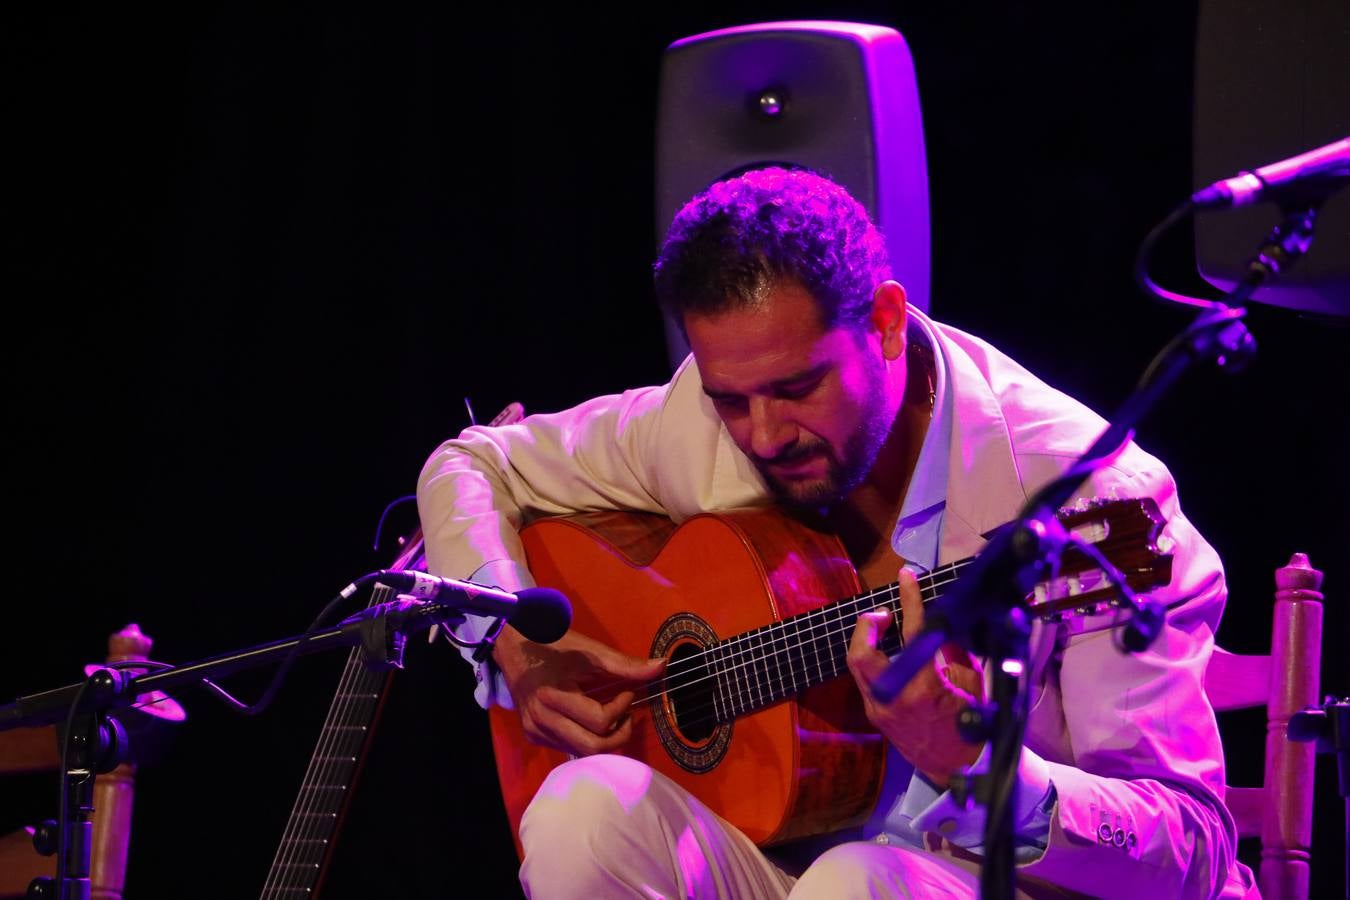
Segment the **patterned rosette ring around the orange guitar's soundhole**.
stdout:
<svg viewBox="0 0 1350 900">
<path fill-rule="evenodd" d="M 695 773 L 721 762 L 732 742 L 732 722 L 720 721 L 717 679 L 703 661 L 706 649 L 716 644 L 717 634 L 707 622 L 690 613 L 666 619 L 652 641 L 651 654 L 670 660 L 652 723 L 666 753 Z"/>
</svg>

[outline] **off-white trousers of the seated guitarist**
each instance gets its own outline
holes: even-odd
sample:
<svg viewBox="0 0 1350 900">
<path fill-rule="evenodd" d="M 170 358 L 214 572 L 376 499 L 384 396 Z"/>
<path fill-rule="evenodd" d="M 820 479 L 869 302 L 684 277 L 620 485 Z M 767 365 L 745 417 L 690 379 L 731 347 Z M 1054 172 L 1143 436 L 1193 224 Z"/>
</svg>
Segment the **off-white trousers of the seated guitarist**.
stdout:
<svg viewBox="0 0 1350 900">
<path fill-rule="evenodd" d="M 532 900 L 979 896 L 979 864 L 872 842 L 834 846 L 796 877 L 678 784 L 618 756 L 555 769 L 520 838 Z"/>
</svg>

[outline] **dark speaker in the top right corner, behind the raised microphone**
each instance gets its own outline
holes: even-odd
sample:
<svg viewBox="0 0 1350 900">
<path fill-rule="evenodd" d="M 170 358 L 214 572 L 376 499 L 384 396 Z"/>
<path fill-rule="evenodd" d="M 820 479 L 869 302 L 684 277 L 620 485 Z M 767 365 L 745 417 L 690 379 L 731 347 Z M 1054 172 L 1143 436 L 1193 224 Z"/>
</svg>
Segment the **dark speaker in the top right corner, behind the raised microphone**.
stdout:
<svg viewBox="0 0 1350 900">
<path fill-rule="evenodd" d="M 1202 0 L 1195 65 L 1195 186 L 1258 169 L 1350 135 L 1350 4 L 1346 0 Z M 1281 219 L 1273 202 L 1203 212 L 1200 275 L 1233 290 Z M 1350 189 L 1318 215 L 1312 247 L 1253 300 L 1350 316 Z"/>
</svg>

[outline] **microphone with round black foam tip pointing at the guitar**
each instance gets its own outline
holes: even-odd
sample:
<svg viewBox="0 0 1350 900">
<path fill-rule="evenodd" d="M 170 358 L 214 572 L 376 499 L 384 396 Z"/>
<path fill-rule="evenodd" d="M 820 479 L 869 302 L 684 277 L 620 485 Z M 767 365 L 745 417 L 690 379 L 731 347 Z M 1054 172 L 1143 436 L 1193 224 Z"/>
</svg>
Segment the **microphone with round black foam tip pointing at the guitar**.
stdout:
<svg viewBox="0 0 1350 900">
<path fill-rule="evenodd" d="M 381 569 L 360 580 L 381 582 L 400 594 L 447 610 L 504 618 L 536 644 L 552 644 L 572 623 L 572 604 L 562 592 L 548 587 L 528 587 L 512 594 L 412 569 Z"/>
</svg>

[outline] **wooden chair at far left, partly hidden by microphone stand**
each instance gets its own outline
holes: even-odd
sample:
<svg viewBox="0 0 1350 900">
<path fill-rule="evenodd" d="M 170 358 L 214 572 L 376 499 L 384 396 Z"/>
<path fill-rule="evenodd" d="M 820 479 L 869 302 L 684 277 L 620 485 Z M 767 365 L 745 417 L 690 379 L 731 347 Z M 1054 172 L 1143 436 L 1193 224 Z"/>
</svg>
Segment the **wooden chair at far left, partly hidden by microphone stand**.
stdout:
<svg viewBox="0 0 1350 900">
<path fill-rule="evenodd" d="M 108 663 L 148 658 L 150 645 L 151 640 L 138 626 L 128 625 L 108 638 Z M 147 708 L 154 708 L 157 718 L 182 718 L 182 707 L 173 700 L 165 699 Z M 0 731 L 0 776 L 55 772 L 59 768 L 55 726 Z M 122 900 L 135 780 L 135 764 L 123 762 L 94 781 L 93 849 L 89 861 L 92 900 Z M 50 818 L 54 819 L 55 812 L 51 810 Z M 39 855 L 27 828 L 0 837 L 0 899 L 24 896 L 32 878 L 55 876 L 55 857 Z"/>
</svg>

